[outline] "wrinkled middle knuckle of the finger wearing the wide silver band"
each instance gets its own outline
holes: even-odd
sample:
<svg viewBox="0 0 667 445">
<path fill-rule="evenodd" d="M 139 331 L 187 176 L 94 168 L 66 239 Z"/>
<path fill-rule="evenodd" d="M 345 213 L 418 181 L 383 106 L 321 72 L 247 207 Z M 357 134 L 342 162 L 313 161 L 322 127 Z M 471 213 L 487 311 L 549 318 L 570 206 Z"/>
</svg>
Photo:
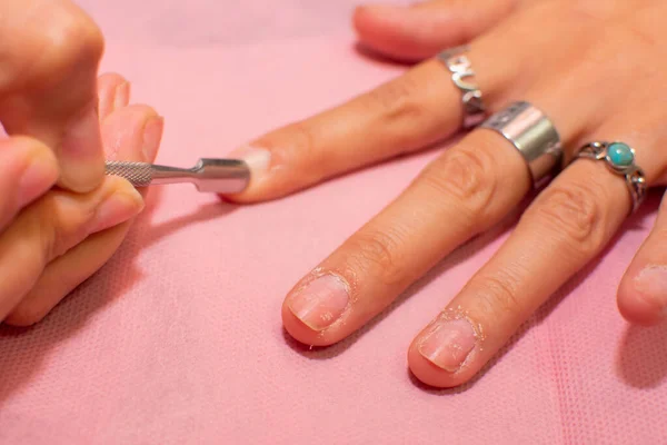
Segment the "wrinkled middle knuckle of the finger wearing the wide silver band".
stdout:
<svg viewBox="0 0 667 445">
<path fill-rule="evenodd" d="M 494 161 L 484 150 L 452 150 L 431 162 L 422 182 L 438 195 L 454 197 L 461 209 L 476 218 L 485 212 L 496 194 Z"/>
</svg>

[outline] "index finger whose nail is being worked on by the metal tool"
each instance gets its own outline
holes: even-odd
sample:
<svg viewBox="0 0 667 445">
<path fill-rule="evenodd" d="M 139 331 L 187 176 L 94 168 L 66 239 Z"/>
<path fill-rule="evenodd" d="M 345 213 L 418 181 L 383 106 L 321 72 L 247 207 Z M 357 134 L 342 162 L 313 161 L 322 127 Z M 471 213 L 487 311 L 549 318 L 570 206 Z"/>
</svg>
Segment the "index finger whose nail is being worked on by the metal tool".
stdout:
<svg viewBox="0 0 667 445">
<path fill-rule="evenodd" d="M 512 90 L 517 72 L 516 63 L 490 56 L 494 44 L 481 42 L 469 55 L 491 109 L 499 91 Z M 370 92 L 258 138 L 230 155 L 246 160 L 252 175 L 243 192 L 227 198 L 252 202 L 282 197 L 452 136 L 462 107 L 450 76 L 442 63 L 429 60 Z"/>
</svg>

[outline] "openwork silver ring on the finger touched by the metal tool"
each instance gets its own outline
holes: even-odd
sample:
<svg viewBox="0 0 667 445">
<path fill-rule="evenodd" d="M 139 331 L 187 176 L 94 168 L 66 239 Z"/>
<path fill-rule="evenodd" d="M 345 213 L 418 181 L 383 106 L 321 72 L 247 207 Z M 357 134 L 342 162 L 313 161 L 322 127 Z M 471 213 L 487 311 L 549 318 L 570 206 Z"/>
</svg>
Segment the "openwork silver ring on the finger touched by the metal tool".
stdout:
<svg viewBox="0 0 667 445">
<path fill-rule="evenodd" d="M 481 100 L 481 91 L 470 78 L 475 77 L 475 71 L 466 52 L 468 46 L 450 48 L 440 52 L 437 58 L 445 63 L 451 72 L 451 81 L 461 91 L 461 101 L 464 105 L 465 129 L 477 127 L 486 118 L 486 108 Z"/>
</svg>

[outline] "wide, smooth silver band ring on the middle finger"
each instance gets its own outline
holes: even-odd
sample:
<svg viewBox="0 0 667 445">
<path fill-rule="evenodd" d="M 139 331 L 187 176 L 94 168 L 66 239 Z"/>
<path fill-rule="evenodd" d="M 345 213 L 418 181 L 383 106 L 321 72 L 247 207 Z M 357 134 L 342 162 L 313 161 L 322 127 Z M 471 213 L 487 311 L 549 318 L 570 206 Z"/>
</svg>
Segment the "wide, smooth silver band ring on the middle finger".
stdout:
<svg viewBox="0 0 667 445">
<path fill-rule="evenodd" d="M 500 134 L 519 150 L 535 188 L 563 168 L 563 145 L 556 127 L 541 110 L 528 102 L 510 105 L 488 118 L 480 128 Z"/>
</svg>

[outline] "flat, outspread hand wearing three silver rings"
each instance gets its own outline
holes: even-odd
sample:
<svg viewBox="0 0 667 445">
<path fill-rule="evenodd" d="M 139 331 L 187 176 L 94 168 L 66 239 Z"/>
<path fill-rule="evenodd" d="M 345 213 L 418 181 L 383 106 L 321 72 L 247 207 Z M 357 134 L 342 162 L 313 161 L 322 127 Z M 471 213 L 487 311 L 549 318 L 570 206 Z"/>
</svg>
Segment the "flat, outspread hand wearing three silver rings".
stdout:
<svg viewBox="0 0 667 445">
<path fill-rule="evenodd" d="M 648 185 L 660 186 L 667 182 L 665 17 L 663 0 L 438 0 L 362 7 L 355 26 L 367 47 L 401 60 L 469 43 L 490 112 L 516 100 L 535 105 L 555 122 L 568 160 L 590 141 L 628 142 Z M 451 73 L 428 59 L 237 151 L 253 179 L 247 191 L 228 198 L 279 198 L 420 150 L 452 136 L 461 120 Z M 600 254 L 631 205 L 624 178 L 604 164 L 579 159 L 563 170 L 497 254 L 417 335 L 408 360 L 419 379 L 438 387 L 470 379 Z M 305 344 L 340 342 L 456 247 L 516 209 L 530 187 L 518 150 L 494 131 L 474 129 L 295 286 L 283 304 L 285 327 Z M 618 305 L 640 324 L 667 314 L 667 205 L 623 279 Z"/>
</svg>

